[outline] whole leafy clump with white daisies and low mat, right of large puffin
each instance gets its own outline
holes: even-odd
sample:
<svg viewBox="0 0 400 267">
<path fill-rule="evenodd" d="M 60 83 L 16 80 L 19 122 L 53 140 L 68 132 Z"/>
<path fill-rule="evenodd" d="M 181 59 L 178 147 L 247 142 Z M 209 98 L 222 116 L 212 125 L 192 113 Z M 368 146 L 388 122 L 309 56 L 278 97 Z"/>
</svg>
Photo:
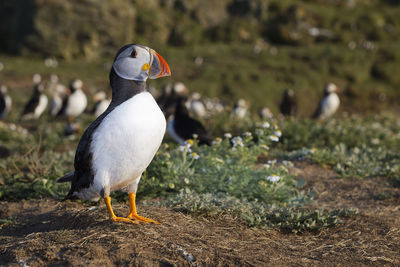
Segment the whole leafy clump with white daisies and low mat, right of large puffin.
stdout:
<svg viewBox="0 0 400 267">
<path fill-rule="evenodd" d="M 255 127 L 254 134 L 226 134 L 211 147 L 198 146 L 196 140 L 172 149 L 164 145 L 148 168 L 139 195 L 165 196 L 160 205 L 184 212 L 229 213 L 249 226 L 295 233 L 331 227 L 339 217 L 352 214 L 305 209 L 316 193 L 302 189 L 304 179 L 296 180 L 285 164 L 258 163 L 259 156 L 267 154 L 280 136 L 276 125 L 263 123 Z"/>
</svg>

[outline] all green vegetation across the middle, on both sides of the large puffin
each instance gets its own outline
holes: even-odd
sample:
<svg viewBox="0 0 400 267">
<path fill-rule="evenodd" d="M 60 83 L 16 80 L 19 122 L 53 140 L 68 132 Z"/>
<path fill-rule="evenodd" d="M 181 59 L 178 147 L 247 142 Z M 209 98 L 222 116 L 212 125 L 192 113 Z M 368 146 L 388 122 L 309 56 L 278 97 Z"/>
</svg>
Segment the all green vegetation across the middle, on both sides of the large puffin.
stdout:
<svg viewBox="0 0 400 267">
<path fill-rule="evenodd" d="M 1 125 L 1 135 L 15 152 L 0 160 L 0 199 L 61 199 L 67 193 L 68 185 L 55 181 L 73 168 L 77 139 L 63 138 L 60 122 L 42 123 L 40 129 L 49 128 L 34 135 Z M 304 178 L 289 174 L 291 161 L 308 159 L 332 166 L 343 177 L 389 177 L 398 184 L 400 126 L 393 118 L 244 125 L 232 141 L 227 134 L 211 147 L 198 146 L 196 140 L 184 146 L 164 143 L 143 175 L 138 196 L 199 216 L 231 214 L 249 226 L 303 232 L 334 226 L 356 210 L 311 208 L 317 193 L 305 189 Z M 281 133 L 279 142 L 272 140 Z M 376 197 L 390 197 L 384 193 Z M 113 197 L 126 201 L 122 193 Z"/>
</svg>

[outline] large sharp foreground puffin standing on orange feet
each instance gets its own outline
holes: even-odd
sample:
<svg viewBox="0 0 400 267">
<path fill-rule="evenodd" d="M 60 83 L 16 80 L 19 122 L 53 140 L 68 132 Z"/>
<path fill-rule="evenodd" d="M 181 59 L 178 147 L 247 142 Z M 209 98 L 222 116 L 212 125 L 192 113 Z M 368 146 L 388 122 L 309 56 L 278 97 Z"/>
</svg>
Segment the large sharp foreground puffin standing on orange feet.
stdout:
<svg viewBox="0 0 400 267">
<path fill-rule="evenodd" d="M 127 44 L 116 54 L 109 79 L 112 100 L 83 133 L 75 154 L 75 170 L 58 182 L 71 182 L 65 199 L 104 199 L 114 222 L 158 223 L 139 216 L 136 191 L 143 171 L 152 161 L 166 130 L 166 120 L 146 80 L 170 76 L 167 62 L 153 49 Z M 110 193 L 129 195 L 130 212 L 117 217 Z"/>
</svg>

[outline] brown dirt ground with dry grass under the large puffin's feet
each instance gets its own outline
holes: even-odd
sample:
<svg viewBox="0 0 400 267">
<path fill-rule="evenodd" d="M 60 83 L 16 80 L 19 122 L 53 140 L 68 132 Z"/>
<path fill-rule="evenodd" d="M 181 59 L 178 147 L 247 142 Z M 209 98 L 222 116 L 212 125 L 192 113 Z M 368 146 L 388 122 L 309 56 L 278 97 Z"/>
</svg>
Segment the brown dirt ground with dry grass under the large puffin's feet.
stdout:
<svg viewBox="0 0 400 267">
<path fill-rule="evenodd" d="M 202 218 L 139 204 L 160 225 L 111 223 L 104 205 L 51 199 L 0 202 L 1 266 L 400 266 L 400 189 L 385 179 L 339 179 L 296 163 L 319 193 L 318 207 L 359 214 L 318 233 L 248 228 L 232 217 Z M 119 215 L 128 205 L 114 205 Z M 1 227 L 1 226 L 0 226 Z"/>
</svg>

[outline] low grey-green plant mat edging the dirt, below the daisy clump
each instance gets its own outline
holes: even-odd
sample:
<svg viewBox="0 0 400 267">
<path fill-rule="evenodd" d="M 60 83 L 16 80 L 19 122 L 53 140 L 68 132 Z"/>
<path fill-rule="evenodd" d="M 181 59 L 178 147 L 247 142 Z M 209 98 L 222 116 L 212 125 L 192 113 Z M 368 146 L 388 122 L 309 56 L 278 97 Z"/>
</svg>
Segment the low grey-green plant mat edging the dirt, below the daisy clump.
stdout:
<svg viewBox="0 0 400 267">
<path fill-rule="evenodd" d="M 169 199 L 165 205 L 175 207 L 182 212 L 204 216 L 231 214 L 238 216 L 249 226 L 260 228 L 280 228 L 284 231 L 301 233 L 318 231 L 340 223 L 340 218 L 357 214 L 356 209 L 320 210 L 305 209 L 302 206 L 311 198 L 299 194 L 295 199 L 284 202 L 283 206 L 267 204 L 262 201 L 249 201 L 224 193 L 197 194 L 182 190 Z"/>
</svg>

